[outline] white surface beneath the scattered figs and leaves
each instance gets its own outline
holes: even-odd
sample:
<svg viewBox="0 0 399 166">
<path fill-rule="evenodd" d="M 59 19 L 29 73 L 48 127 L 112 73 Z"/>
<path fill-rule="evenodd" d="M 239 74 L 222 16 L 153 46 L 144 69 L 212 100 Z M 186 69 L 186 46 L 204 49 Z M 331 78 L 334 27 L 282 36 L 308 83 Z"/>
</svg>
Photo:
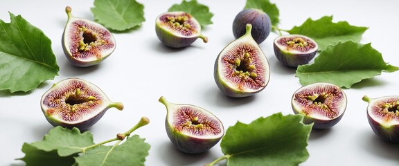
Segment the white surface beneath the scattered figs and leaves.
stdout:
<svg viewBox="0 0 399 166">
<path fill-rule="evenodd" d="M 195 104 L 212 111 L 222 120 L 224 127 L 238 120 L 249 123 L 259 116 L 273 113 L 292 113 L 290 98 L 301 87 L 292 68 L 285 68 L 274 57 L 272 33 L 260 44 L 271 68 L 271 80 L 264 91 L 251 98 L 231 99 L 220 93 L 213 80 L 213 64 L 224 46 L 233 40 L 231 25 L 234 17 L 245 6 L 245 1 L 200 1 L 215 15 L 214 24 L 203 34 L 209 37 L 204 44 L 199 39 L 192 46 L 173 50 L 163 46 L 155 34 L 155 18 L 166 12 L 174 1 L 140 1 L 145 6 L 145 19 L 141 28 L 128 33 L 115 33 L 116 50 L 102 64 L 91 68 L 71 66 L 64 57 L 61 36 L 67 21 L 65 6 L 72 14 L 93 19 L 90 8 L 93 1 L 4 1 L 0 6 L 0 19 L 8 22 L 8 11 L 21 15 L 42 29 L 53 42 L 53 51 L 60 66 L 59 76 L 48 80 L 29 93 L 10 94 L 0 91 L 0 165 L 24 165 L 15 160 L 24 154 L 24 142 L 42 140 L 52 126 L 44 118 L 39 106 L 42 94 L 55 82 L 67 77 L 80 77 L 98 85 L 113 101 L 123 102 L 125 109 L 109 109 L 105 116 L 90 128 L 95 142 L 114 138 L 116 133 L 130 129 L 141 116 L 151 122 L 134 133 L 150 143 L 146 165 L 204 165 L 222 156 L 219 144 L 209 152 L 187 155 L 177 151 L 164 129 L 166 108 L 158 102 L 161 95 L 170 102 Z M 299 26 L 311 17 L 319 19 L 333 15 L 333 21 L 348 21 L 355 26 L 366 26 L 362 43 L 371 42 L 385 62 L 399 66 L 399 1 L 273 1 L 280 10 L 280 28 Z M 227 5 L 228 4 L 228 5 Z M 335 127 L 312 131 L 308 151 L 310 158 L 301 165 L 398 165 L 398 145 L 377 138 L 366 120 L 366 102 L 371 98 L 398 94 L 396 73 L 382 73 L 372 80 L 345 89 L 348 97 L 346 113 Z M 224 163 L 222 163 L 224 165 Z"/>
</svg>

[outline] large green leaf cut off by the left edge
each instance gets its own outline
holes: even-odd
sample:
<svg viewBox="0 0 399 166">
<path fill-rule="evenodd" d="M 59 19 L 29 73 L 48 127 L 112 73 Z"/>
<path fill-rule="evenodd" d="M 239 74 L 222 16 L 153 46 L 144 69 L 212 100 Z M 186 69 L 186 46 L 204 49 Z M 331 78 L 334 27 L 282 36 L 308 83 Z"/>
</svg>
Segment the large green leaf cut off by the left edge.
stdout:
<svg viewBox="0 0 399 166">
<path fill-rule="evenodd" d="M 21 15 L 0 20 L 0 90 L 30 91 L 53 80 L 60 68 L 51 40 Z"/>
</svg>

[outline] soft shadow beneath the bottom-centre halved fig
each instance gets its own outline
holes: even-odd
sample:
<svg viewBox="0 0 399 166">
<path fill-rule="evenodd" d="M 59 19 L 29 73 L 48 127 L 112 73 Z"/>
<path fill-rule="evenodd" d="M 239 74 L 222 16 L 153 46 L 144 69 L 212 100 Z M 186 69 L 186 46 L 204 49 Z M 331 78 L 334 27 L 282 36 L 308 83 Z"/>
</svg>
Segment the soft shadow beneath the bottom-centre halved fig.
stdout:
<svg viewBox="0 0 399 166">
<path fill-rule="evenodd" d="M 185 154 L 176 149 L 171 142 L 163 142 L 159 149 L 161 151 L 158 151 L 158 153 L 163 163 L 173 166 L 192 165 L 193 163 L 204 160 L 204 158 L 207 158 L 211 154 L 209 151 L 205 151 L 202 154 Z"/>
</svg>

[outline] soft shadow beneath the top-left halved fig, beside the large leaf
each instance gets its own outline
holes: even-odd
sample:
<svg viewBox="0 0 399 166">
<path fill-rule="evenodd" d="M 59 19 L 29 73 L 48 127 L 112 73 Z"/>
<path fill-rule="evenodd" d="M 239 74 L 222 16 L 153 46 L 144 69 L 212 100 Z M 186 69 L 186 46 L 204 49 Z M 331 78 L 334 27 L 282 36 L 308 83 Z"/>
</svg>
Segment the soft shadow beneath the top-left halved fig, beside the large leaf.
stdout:
<svg viewBox="0 0 399 166">
<path fill-rule="evenodd" d="M 98 68 L 100 68 L 101 64 L 97 64 L 89 67 L 78 67 L 74 66 L 68 61 L 62 62 L 62 67 L 60 67 L 60 75 L 65 75 L 67 77 L 77 77 L 79 75 L 86 75 L 88 73 L 93 73 Z"/>
</svg>

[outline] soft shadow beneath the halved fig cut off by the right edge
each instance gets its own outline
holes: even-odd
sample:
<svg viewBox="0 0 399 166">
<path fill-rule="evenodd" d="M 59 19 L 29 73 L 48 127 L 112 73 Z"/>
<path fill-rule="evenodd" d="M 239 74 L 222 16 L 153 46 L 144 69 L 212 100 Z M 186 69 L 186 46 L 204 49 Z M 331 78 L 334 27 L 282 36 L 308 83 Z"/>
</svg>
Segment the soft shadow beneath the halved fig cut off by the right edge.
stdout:
<svg viewBox="0 0 399 166">
<path fill-rule="evenodd" d="M 373 132 L 368 132 L 364 138 L 364 148 L 369 153 L 379 156 L 381 158 L 387 158 L 388 160 L 396 160 L 399 164 L 399 143 L 392 143 L 386 140 L 382 140 L 376 136 Z"/>
</svg>

